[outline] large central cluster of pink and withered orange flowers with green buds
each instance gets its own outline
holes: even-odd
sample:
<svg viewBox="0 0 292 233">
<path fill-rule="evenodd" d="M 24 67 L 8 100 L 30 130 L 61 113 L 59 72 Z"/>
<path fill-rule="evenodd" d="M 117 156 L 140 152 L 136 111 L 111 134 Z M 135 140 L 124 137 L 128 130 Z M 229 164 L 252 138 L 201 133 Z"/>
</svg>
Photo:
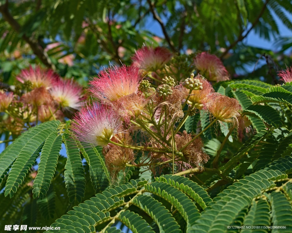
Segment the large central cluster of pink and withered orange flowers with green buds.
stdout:
<svg viewBox="0 0 292 233">
<path fill-rule="evenodd" d="M 202 166 L 209 156 L 204 152 L 201 138 L 180 132 L 192 112 L 210 112 L 213 121 L 238 125 L 241 110 L 238 101 L 215 93 L 211 83 L 201 75 L 191 74 L 180 83 L 175 83 L 171 76 L 159 77 L 156 88 L 152 87 L 142 70 L 161 68 L 166 62 L 162 51 L 162 48 L 143 47 L 133 57 L 134 64 L 140 67 L 111 66 L 100 71 L 88 88 L 93 103 L 82 107 L 73 119 L 74 137 L 85 146 L 102 146 L 111 171 L 147 166 L 147 163 L 137 164 L 137 151 L 143 151 L 150 164 L 167 165 L 174 160 L 175 166 L 182 170 Z M 165 54 L 169 56 L 166 51 Z M 187 105 L 188 110 L 184 111 Z"/>
</svg>

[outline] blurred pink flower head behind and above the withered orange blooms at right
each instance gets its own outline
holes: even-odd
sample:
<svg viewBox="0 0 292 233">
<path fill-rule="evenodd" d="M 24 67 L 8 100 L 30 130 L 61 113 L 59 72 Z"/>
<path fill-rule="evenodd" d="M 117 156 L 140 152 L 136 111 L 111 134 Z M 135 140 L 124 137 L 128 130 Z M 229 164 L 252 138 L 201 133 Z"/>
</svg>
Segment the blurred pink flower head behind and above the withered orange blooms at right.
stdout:
<svg viewBox="0 0 292 233">
<path fill-rule="evenodd" d="M 209 81 L 229 80 L 229 74 L 222 61 L 213 54 L 199 53 L 194 58 L 194 64 L 197 67 L 197 72 L 202 73 Z"/>
</svg>

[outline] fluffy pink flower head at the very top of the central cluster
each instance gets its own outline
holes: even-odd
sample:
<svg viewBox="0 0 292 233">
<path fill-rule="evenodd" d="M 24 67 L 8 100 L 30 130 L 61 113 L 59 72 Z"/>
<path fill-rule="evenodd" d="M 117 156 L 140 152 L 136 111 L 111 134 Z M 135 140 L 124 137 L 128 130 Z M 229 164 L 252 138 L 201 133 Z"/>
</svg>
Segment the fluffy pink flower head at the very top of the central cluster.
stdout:
<svg viewBox="0 0 292 233">
<path fill-rule="evenodd" d="M 143 46 L 132 57 L 133 65 L 141 66 L 145 71 L 157 71 L 161 69 L 172 57 L 172 53 L 164 47 Z"/>
</svg>

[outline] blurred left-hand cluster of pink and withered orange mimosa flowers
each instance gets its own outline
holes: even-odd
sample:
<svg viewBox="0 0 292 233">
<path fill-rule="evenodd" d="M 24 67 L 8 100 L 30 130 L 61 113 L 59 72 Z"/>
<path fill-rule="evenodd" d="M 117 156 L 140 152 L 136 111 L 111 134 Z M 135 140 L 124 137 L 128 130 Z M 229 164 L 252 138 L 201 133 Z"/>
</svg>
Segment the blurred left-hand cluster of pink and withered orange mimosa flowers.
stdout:
<svg viewBox="0 0 292 233">
<path fill-rule="evenodd" d="M 16 80 L 15 93 L 0 90 L 0 112 L 7 114 L 0 127 L 7 129 L 6 125 L 14 125 L 9 131 L 15 134 L 39 121 L 62 120 L 74 114 L 84 99 L 79 84 L 39 66 L 22 70 Z"/>
</svg>

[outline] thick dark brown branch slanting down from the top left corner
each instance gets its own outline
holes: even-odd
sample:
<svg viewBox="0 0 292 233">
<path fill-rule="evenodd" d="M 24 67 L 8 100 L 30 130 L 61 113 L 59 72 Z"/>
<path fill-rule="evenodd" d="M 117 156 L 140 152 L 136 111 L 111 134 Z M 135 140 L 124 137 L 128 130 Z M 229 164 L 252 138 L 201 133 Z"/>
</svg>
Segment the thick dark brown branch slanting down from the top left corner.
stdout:
<svg viewBox="0 0 292 233">
<path fill-rule="evenodd" d="M 10 24 L 13 30 L 15 30 L 17 33 L 21 33 L 20 25 L 9 12 L 8 0 L 6 0 L 6 3 L 4 5 L 0 6 L 0 13 L 2 14 L 4 20 L 8 22 L 8 24 Z M 49 58 L 48 54 L 44 51 L 44 49 L 41 47 L 38 40 L 34 40 L 33 38 L 26 36 L 25 34 L 22 35 L 22 39 L 29 44 L 34 54 L 41 60 L 42 63 L 44 63 L 45 66 L 53 70 L 56 69 L 55 65 L 51 62 L 51 59 Z"/>
</svg>

